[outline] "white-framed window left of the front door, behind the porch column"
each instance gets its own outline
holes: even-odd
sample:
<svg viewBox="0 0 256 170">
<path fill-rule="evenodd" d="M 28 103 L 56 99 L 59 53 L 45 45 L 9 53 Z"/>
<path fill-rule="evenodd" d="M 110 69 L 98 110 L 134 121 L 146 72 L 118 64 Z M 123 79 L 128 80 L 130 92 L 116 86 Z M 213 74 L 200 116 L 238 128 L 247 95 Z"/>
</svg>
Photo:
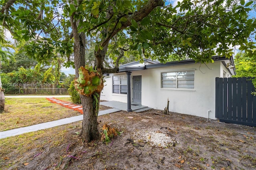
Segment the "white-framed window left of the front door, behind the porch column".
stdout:
<svg viewBox="0 0 256 170">
<path fill-rule="evenodd" d="M 127 76 L 126 75 L 113 76 L 113 93 L 127 94 Z"/>
</svg>

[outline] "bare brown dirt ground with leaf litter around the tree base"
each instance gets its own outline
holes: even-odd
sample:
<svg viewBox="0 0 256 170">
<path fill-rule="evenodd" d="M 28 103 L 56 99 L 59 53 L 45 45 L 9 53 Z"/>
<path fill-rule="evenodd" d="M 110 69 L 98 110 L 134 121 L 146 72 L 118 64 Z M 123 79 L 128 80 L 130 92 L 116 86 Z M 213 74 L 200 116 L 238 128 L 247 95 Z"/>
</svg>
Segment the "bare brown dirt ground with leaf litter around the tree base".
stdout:
<svg viewBox="0 0 256 170">
<path fill-rule="evenodd" d="M 123 132 L 108 144 L 100 140 L 85 144 L 76 135 L 81 121 L 56 127 L 52 136 L 42 135 L 33 140 L 36 147 L 25 153 L 15 149 L 1 152 L 0 167 L 7 170 L 256 169 L 255 127 L 178 113 L 164 115 L 160 110 L 120 111 L 99 116 L 98 122 L 100 132 L 106 123 Z M 63 130 L 63 140 L 54 144 L 54 136 Z"/>
</svg>

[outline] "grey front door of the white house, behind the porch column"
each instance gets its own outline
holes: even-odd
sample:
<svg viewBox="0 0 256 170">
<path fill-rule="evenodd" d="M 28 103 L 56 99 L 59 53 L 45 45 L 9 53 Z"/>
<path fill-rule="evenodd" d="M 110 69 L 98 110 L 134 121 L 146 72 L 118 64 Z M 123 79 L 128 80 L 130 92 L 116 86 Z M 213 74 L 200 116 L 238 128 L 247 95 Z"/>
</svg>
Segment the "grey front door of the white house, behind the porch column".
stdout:
<svg viewBox="0 0 256 170">
<path fill-rule="evenodd" d="M 141 75 L 136 75 L 132 77 L 133 81 L 133 102 L 141 103 Z"/>
</svg>

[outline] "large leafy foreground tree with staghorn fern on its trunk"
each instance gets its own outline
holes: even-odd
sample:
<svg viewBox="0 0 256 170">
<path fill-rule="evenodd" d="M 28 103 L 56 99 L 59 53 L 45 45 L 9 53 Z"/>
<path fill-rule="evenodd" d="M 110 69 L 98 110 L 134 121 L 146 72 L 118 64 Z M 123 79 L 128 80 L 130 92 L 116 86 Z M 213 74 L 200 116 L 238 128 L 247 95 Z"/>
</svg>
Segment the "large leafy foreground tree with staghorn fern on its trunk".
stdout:
<svg viewBox="0 0 256 170">
<path fill-rule="evenodd" d="M 14 38 L 32 40 L 26 46 L 28 55 L 46 61 L 56 56 L 54 49 L 58 49 L 67 56 L 66 66 L 74 63 L 84 112 L 80 134 L 90 141 L 99 137 L 97 102 L 103 87 L 102 73 L 118 72 L 120 57 L 115 68 L 105 67 L 107 51 L 119 51 L 117 56 L 123 56 L 127 47 L 131 52 L 138 51 L 138 59 L 162 62 L 173 53 L 197 62 L 213 62 L 216 53 L 230 57 L 230 45 L 251 52 L 254 42 L 247 39 L 256 28 L 254 19 L 248 19 L 252 3 L 241 1 L 229 9 L 220 0 L 184 0 L 175 7 L 162 0 L 2 0 L 0 22 Z M 96 62 L 94 68 L 80 69 L 85 65 L 86 36 L 98 37 L 94 42 Z M 70 61 L 73 52 L 74 62 Z M 88 83 L 88 78 L 95 81 Z"/>
</svg>

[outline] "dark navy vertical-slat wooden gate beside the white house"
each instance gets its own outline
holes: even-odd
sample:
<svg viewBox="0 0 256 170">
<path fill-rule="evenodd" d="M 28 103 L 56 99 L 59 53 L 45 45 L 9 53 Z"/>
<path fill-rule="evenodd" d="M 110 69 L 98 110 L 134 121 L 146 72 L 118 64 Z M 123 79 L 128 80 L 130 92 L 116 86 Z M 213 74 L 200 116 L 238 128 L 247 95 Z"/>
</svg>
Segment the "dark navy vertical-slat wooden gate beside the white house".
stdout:
<svg viewBox="0 0 256 170">
<path fill-rule="evenodd" d="M 251 77 L 216 77 L 215 117 L 220 122 L 256 127 L 256 96 L 252 95 L 253 91 Z"/>
</svg>

